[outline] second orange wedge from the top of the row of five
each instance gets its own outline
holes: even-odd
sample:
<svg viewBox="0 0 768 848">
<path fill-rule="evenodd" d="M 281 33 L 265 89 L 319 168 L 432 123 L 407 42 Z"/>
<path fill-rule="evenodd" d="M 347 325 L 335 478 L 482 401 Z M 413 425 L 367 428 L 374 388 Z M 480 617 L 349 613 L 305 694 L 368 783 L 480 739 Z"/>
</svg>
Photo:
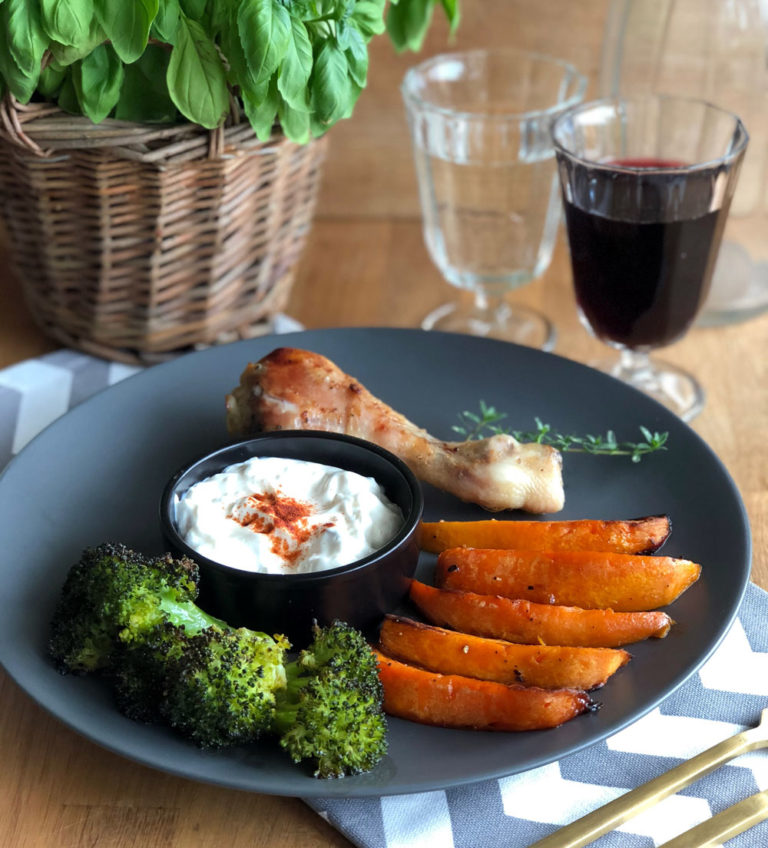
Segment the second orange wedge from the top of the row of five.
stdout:
<svg viewBox="0 0 768 848">
<path fill-rule="evenodd" d="M 435 582 L 539 604 L 636 612 L 671 604 L 700 574 L 697 563 L 674 557 L 451 548 L 437 558 Z"/>
</svg>

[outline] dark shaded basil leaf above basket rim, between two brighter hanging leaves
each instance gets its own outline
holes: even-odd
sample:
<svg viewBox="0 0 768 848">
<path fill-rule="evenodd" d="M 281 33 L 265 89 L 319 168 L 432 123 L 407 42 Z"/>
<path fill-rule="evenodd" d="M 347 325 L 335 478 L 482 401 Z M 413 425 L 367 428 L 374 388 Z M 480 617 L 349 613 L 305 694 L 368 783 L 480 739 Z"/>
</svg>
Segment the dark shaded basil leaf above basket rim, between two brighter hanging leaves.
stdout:
<svg viewBox="0 0 768 848">
<path fill-rule="evenodd" d="M 165 78 L 171 54 L 150 44 L 141 58 L 125 68 L 115 117 L 136 123 L 170 123 L 178 117 Z"/>
</svg>

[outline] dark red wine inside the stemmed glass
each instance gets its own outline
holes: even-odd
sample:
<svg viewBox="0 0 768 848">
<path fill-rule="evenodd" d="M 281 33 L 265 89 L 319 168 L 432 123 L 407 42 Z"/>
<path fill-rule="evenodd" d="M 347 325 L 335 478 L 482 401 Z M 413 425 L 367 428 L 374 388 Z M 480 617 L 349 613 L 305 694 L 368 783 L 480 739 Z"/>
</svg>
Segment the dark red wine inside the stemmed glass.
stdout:
<svg viewBox="0 0 768 848">
<path fill-rule="evenodd" d="M 618 164 L 663 168 L 672 163 Z M 665 175 L 654 179 L 665 194 Z M 634 349 L 670 344 L 690 327 L 707 295 L 727 210 L 661 221 L 614 218 L 610 211 L 602 214 L 604 205 L 595 214 L 565 203 L 579 308 L 604 341 Z"/>
</svg>

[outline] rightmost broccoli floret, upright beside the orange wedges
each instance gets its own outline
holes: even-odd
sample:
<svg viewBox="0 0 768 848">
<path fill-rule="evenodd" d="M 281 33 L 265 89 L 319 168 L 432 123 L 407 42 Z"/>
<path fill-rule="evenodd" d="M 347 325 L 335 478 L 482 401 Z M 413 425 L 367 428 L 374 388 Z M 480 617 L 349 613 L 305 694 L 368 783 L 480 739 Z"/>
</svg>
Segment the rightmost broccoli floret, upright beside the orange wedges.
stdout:
<svg viewBox="0 0 768 848">
<path fill-rule="evenodd" d="M 286 666 L 273 723 L 294 762 L 310 760 L 315 777 L 370 771 L 387 750 L 376 657 L 362 634 L 336 621 Z"/>
</svg>

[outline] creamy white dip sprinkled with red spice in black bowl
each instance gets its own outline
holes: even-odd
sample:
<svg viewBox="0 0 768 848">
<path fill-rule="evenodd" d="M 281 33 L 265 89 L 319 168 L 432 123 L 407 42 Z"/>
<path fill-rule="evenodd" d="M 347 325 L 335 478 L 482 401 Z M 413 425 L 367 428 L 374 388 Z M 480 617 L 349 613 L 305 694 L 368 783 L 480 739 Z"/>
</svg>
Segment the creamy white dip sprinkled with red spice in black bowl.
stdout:
<svg viewBox="0 0 768 848">
<path fill-rule="evenodd" d="M 296 574 L 368 556 L 395 536 L 403 516 L 371 477 L 254 457 L 191 486 L 177 501 L 176 523 L 186 543 L 208 559 Z"/>
</svg>

